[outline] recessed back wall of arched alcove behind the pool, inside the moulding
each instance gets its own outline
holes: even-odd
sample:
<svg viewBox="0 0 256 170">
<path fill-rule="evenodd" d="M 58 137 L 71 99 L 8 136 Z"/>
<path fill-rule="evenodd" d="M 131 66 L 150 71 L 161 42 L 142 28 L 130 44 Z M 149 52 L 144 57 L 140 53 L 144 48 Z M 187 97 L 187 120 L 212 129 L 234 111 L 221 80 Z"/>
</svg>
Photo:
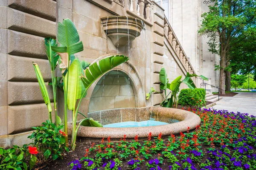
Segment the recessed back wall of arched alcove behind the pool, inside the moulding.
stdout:
<svg viewBox="0 0 256 170">
<path fill-rule="evenodd" d="M 135 91 L 135 93 L 134 93 Z M 119 69 L 104 74 L 90 96 L 88 112 L 114 108 L 136 108 L 136 88 L 129 75 Z"/>
</svg>

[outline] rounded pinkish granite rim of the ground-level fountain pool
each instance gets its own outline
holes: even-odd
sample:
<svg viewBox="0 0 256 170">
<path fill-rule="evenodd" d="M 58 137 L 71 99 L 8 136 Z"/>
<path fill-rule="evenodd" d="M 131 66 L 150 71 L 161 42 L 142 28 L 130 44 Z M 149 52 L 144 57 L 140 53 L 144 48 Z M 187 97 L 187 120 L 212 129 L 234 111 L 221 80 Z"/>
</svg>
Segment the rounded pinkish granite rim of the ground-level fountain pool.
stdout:
<svg viewBox="0 0 256 170">
<path fill-rule="evenodd" d="M 162 107 L 150 107 L 149 111 L 157 116 L 174 117 L 180 122 L 147 126 L 147 127 L 84 127 L 80 126 L 77 137 L 83 140 L 101 140 L 111 137 L 111 141 L 119 141 L 126 135 L 127 140 L 132 140 L 136 135 L 139 139 L 146 139 L 148 133 L 152 133 L 152 137 L 158 136 L 162 132 L 163 136 L 169 136 L 170 134 L 178 134 L 180 132 L 186 132 L 189 127 L 190 130 L 194 130 L 197 125 L 200 125 L 201 119 L 195 113 L 184 111 L 175 108 L 162 108 Z M 68 125 L 68 134 L 71 135 L 72 124 Z"/>
</svg>

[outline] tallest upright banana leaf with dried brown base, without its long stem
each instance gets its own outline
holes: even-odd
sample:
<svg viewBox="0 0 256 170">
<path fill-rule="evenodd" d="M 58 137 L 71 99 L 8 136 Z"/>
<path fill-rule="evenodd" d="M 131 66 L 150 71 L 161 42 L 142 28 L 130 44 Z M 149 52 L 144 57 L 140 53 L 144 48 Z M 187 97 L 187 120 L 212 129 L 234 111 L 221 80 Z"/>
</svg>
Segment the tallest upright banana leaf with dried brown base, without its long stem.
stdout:
<svg viewBox="0 0 256 170">
<path fill-rule="evenodd" d="M 58 23 L 57 38 L 61 46 L 52 46 L 52 50 L 60 55 L 61 73 L 64 74 L 64 71 L 70 64 L 70 55 L 83 51 L 84 47 L 83 43 L 81 41 L 79 42 L 79 34 L 70 19 L 65 19 L 62 23 Z"/>
</svg>

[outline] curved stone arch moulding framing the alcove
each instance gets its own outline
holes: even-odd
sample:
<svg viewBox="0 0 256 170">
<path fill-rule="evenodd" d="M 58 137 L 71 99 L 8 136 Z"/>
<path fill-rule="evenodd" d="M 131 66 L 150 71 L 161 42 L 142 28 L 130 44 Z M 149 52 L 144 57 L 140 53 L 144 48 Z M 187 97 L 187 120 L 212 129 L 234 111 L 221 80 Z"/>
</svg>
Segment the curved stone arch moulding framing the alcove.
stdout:
<svg viewBox="0 0 256 170">
<path fill-rule="evenodd" d="M 94 62 L 98 62 L 100 59 L 104 59 L 106 57 L 110 57 L 113 55 L 118 55 L 118 54 L 105 54 L 99 58 L 97 58 L 96 60 L 94 60 L 92 63 Z M 142 108 L 146 106 L 146 101 L 145 101 L 145 90 L 143 87 L 143 83 L 142 80 L 140 78 L 140 75 L 137 71 L 137 68 L 128 60 L 125 63 L 122 63 L 121 65 L 118 65 L 117 67 L 113 68 L 111 71 L 120 71 L 124 74 L 126 74 L 129 78 L 130 78 L 130 82 L 132 85 L 132 89 L 134 91 L 134 96 L 135 96 L 135 104 L 136 104 L 136 108 Z M 107 73 L 106 73 L 107 74 Z M 104 75 L 102 75 L 103 77 Z M 86 95 L 86 102 L 82 102 L 86 105 L 86 108 L 84 108 L 83 106 L 81 108 L 83 108 L 85 113 L 89 112 L 89 103 L 90 103 L 90 98 L 93 94 L 93 90 L 96 87 L 97 83 L 99 82 L 99 80 L 102 78 L 99 77 L 88 89 L 87 91 L 87 95 Z"/>
</svg>

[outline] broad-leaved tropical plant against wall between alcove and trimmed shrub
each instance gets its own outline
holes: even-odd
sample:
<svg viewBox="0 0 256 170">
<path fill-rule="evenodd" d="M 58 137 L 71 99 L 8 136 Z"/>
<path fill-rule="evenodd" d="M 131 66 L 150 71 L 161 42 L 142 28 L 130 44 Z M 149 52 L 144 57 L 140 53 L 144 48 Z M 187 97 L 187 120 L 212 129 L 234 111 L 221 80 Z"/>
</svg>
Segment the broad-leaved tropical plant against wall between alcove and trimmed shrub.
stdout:
<svg viewBox="0 0 256 170">
<path fill-rule="evenodd" d="M 160 105 L 162 105 L 162 107 L 172 108 L 172 106 L 176 104 L 176 108 L 177 108 L 177 93 L 180 91 L 180 84 L 183 82 L 190 89 L 196 88 L 191 77 L 201 77 L 204 80 L 208 80 L 206 77 L 204 77 L 202 75 L 198 76 L 196 74 L 187 73 L 185 78 L 182 81 L 180 81 L 180 79 L 182 78 L 182 75 L 180 75 L 176 79 L 174 79 L 171 83 L 169 83 L 169 79 L 167 78 L 166 70 L 163 67 L 160 71 L 159 79 L 160 79 L 160 89 L 164 91 L 164 96 L 160 92 L 155 91 L 154 88 L 151 88 L 150 92 L 148 94 L 146 94 L 146 99 L 148 100 L 149 97 L 151 96 L 151 94 L 156 92 L 156 93 L 161 94 L 161 96 L 163 97 L 163 102 L 160 103 Z M 169 94 L 167 94 L 167 89 L 170 90 Z M 170 94 L 171 94 L 171 96 L 170 96 Z"/>
</svg>

